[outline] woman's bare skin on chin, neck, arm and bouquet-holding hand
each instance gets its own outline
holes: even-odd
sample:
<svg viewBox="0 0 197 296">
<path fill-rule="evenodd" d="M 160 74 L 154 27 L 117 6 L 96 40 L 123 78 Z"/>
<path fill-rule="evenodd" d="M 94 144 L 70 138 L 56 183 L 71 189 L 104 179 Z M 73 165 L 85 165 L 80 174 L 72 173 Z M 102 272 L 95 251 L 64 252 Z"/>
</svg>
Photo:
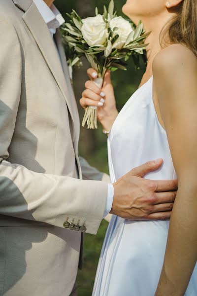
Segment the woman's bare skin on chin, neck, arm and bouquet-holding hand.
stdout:
<svg viewBox="0 0 197 296">
<path fill-rule="evenodd" d="M 166 130 L 179 179 L 156 296 L 183 296 L 197 262 L 197 57 L 184 45 L 168 42 L 162 49 L 159 42 L 163 25 L 170 21 L 182 1 L 127 0 L 123 7 L 123 12 L 136 24 L 141 19 L 145 30 L 151 31 L 146 40 L 150 43 L 148 65 L 140 85 L 153 74 L 154 105 Z M 91 80 L 94 73 L 94 69 L 88 70 Z M 87 86 L 82 107 L 93 105 L 92 92 L 100 93 L 92 81 L 86 82 Z M 109 73 L 102 91 L 105 102 L 99 107 L 99 120 L 104 129 L 110 130 L 117 111 Z"/>
</svg>

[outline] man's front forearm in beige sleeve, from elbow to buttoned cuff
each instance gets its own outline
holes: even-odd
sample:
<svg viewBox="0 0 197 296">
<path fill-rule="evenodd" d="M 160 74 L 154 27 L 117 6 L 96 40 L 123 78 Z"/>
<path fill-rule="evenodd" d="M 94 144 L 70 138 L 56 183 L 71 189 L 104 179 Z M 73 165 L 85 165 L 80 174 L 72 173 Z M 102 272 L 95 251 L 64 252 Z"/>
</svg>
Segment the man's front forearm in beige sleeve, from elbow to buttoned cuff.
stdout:
<svg viewBox="0 0 197 296">
<path fill-rule="evenodd" d="M 87 190 L 88 188 L 88 190 Z M 36 173 L 26 167 L 0 163 L 0 214 L 64 227 L 85 223 L 96 234 L 103 218 L 107 183 Z"/>
</svg>

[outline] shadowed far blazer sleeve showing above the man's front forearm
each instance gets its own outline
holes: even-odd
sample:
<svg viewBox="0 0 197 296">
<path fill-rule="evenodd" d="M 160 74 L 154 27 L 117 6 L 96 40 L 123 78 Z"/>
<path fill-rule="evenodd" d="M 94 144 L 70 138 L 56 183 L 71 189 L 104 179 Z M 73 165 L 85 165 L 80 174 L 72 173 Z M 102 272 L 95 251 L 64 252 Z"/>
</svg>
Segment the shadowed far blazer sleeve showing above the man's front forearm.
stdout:
<svg viewBox="0 0 197 296">
<path fill-rule="evenodd" d="M 81 165 L 83 180 L 95 180 L 111 183 L 109 175 L 101 173 L 96 168 L 90 166 L 90 164 L 83 157 L 79 156 L 79 161 Z"/>
</svg>

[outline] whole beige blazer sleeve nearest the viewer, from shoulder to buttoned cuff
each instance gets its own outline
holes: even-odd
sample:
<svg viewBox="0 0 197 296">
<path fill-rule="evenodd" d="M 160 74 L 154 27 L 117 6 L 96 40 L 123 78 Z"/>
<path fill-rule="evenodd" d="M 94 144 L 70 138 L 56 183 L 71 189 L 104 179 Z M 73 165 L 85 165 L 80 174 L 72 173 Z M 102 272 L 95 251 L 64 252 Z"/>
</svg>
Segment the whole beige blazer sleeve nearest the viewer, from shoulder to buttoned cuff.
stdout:
<svg viewBox="0 0 197 296">
<path fill-rule="evenodd" d="M 10 163 L 9 145 L 20 103 L 22 55 L 11 22 L 0 17 L 0 214 L 64 227 L 74 219 L 96 234 L 107 183 L 40 174 Z"/>
</svg>

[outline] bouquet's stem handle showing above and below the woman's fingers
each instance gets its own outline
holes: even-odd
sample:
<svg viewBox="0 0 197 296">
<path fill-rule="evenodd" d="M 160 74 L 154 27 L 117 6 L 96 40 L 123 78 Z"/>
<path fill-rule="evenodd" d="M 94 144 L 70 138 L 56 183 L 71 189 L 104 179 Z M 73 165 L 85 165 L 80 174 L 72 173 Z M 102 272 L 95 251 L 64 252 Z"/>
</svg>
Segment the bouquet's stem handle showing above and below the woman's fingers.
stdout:
<svg viewBox="0 0 197 296">
<path fill-rule="evenodd" d="M 103 84 L 102 78 L 95 78 L 94 83 L 101 88 Z M 97 129 L 97 108 L 96 106 L 90 106 L 86 108 L 83 121 L 82 121 L 82 127 L 85 127 L 87 124 L 88 129 Z"/>
</svg>

